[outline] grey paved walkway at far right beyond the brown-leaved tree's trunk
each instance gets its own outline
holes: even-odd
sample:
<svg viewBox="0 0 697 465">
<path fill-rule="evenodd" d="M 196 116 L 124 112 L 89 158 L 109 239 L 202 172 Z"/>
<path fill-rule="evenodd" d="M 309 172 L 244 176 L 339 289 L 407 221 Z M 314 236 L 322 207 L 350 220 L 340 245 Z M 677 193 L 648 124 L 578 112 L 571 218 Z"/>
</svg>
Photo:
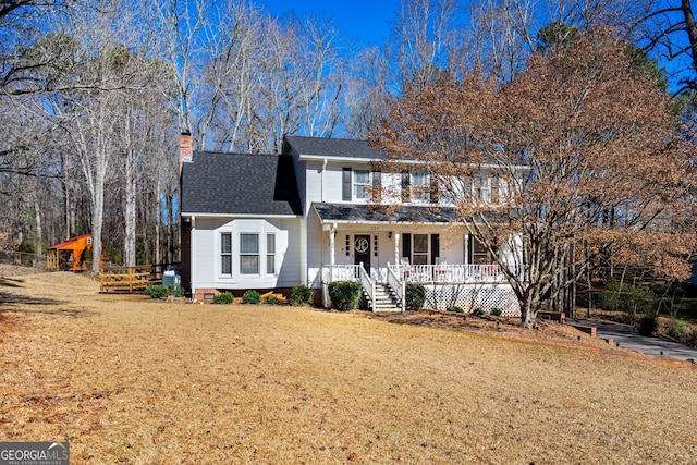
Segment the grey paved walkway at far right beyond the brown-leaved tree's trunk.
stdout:
<svg viewBox="0 0 697 465">
<path fill-rule="evenodd" d="M 697 348 L 677 342 L 631 331 L 626 325 L 598 322 L 586 319 L 567 319 L 567 323 L 596 327 L 598 338 L 611 339 L 621 348 L 640 352 L 655 357 L 669 357 L 678 360 L 693 359 L 697 363 Z"/>
</svg>

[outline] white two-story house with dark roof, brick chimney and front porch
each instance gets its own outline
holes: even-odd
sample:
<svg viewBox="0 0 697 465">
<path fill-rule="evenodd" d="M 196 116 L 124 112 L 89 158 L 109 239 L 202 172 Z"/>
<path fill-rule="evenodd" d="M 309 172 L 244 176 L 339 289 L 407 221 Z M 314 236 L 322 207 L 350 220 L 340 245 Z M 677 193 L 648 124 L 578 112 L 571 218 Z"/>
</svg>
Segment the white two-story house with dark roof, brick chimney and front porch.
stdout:
<svg viewBox="0 0 697 465">
<path fill-rule="evenodd" d="M 194 298 L 230 290 L 359 281 L 372 310 L 403 310 L 404 286 L 427 306 L 500 308 L 515 295 L 427 173 L 375 170 L 365 140 L 288 136 L 282 154 L 180 148 L 182 284 Z M 482 179 L 482 198 L 491 189 Z"/>
</svg>

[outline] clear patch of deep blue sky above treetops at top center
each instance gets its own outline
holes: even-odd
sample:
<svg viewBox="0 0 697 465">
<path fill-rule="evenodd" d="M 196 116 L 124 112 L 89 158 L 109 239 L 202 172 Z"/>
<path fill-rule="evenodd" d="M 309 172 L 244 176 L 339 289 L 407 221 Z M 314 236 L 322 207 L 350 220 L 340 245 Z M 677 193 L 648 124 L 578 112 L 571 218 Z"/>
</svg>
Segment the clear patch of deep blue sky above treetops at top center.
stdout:
<svg viewBox="0 0 697 465">
<path fill-rule="evenodd" d="M 382 45 L 390 34 L 390 23 L 395 17 L 399 0 L 255 0 L 274 16 L 294 12 L 298 17 L 306 15 L 330 19 L 342 36 L 355 39 L 359 45 Z"/>
</svg>

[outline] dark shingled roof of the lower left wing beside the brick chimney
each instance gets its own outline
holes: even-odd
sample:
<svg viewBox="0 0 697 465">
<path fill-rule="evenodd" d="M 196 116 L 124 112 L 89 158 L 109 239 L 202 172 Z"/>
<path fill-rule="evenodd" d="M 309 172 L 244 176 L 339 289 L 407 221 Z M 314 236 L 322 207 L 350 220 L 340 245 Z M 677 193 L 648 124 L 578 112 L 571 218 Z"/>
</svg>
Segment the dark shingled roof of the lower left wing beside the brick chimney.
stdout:
<svg viewBox="0 0 697 465">
<path fill-rule="evenodd" d="M 182 212 L 303 215 L 288 156 L 195 151 L 182 172 Z"/>
</svg>

